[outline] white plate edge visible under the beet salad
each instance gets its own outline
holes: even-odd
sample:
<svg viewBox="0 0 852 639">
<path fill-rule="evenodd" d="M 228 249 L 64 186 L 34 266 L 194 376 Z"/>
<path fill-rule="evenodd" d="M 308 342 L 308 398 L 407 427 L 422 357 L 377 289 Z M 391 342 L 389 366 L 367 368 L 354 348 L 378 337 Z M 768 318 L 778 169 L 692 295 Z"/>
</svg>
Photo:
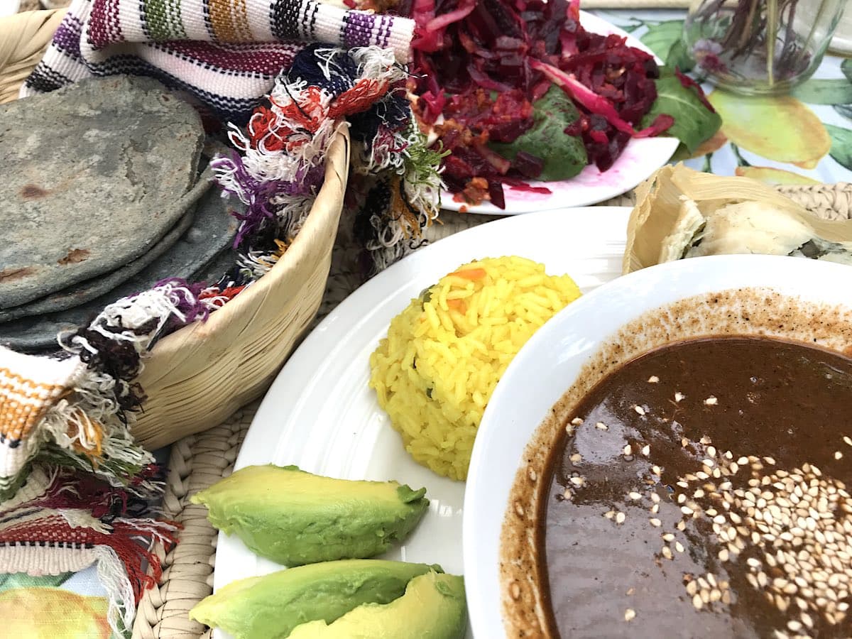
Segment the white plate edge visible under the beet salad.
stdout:
<svg viewBox="0 0 852 639">
<path fill-rule="evenodd" d="M 596 15 L 580 11 L 580 22 L 586 30 L 594 33 L 617 33 L 627 38 L 627 43 L 636 49 L 653 53 L 635 37 L 611 25 Z M 663 61 L 654 56 L 657 64 Z M 528 213 L 533 210 L 561 209 L 565 206 L 587 206 L 627 193 L 641 181 L 669 161 L 680 144 L 673 137 L 647 137 L 632 139 L 627 143 L 615 164 L 609 170 L 601 172 L 593 164 L 582 170 L 579 176 L 570 180 L 556 182 L 529 181 L 532 187 L 546 187 L 550 193 L 530 193 L 509 186 L 503 187 L 506 208 L 498 209 L 490 202 L 473 206 L 456 202 L 452 193 L 440 194 L 440 206 L 446 210 L 460 210 L 464 207 L 468 213 L 487 213 L 489 215 L 508 215 Z"/>
</svg>

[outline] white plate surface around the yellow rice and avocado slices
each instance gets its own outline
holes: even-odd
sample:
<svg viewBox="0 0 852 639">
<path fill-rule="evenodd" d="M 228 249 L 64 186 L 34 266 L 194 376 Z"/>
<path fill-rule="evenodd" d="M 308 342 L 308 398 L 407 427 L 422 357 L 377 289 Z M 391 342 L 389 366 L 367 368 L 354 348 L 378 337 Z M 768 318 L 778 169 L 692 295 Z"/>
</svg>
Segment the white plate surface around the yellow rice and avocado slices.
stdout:
<svg viewBox="0 0 852 639">
<path fill-rule="evenodd" d="M 287 362 L 257 411 L 236 468 L 295 463 L 343 479 L 426 486 L 429 512 L 387 557 L 462 573 L 464 484 L 435 475 L 405 452 L 367 388 L 370 354 L 412 297 L 476 258 L 529 257 L 548 273 L 569 273 L 584 292 L 618 277 L 629 215 L 628 208 L 598 206 L 504 218 L 441 239 L 378 274 L 326 317 Z M 239 538 L 219 534 L 215 590 L 280 568 Z"/>
</svg>

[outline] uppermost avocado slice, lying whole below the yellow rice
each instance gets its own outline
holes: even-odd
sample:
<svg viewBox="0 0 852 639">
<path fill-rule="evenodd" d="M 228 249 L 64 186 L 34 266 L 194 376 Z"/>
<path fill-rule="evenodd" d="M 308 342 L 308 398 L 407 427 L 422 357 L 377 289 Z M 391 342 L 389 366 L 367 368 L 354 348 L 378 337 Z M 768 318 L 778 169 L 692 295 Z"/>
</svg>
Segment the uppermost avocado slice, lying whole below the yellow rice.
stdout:
<svg viewBox="0 0 852 639">
<path fill-rule="evenodd" d="M 296 466 L 248 466 L 196 493 L 210 523 L 285 566 L 376 556 L 400 542 L 429 507 L 426 489 L 348 481 Z"/>
</svg>

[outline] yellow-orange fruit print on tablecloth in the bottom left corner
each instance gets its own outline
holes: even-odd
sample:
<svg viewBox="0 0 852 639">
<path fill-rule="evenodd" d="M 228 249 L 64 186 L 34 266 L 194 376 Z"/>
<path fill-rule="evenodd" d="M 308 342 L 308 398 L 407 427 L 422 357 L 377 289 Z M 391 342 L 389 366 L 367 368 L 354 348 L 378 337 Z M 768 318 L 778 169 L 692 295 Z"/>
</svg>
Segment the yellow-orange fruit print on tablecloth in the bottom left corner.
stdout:
<svg viewBox="0 0 852 639">
<path fill-rule="evenodd" d="M 27 639 L 109 639 L 107 598 L 61 588 L 0 592 L 0 636 Z"/>
</svg>

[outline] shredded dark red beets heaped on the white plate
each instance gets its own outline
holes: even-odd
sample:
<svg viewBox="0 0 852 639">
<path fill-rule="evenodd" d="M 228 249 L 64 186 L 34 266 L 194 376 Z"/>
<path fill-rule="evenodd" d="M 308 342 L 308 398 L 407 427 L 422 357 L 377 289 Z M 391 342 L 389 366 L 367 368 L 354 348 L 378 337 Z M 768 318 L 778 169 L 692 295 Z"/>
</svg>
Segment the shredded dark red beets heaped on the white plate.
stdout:
<svg viewBox="0 0 852 639">
<path fill-rule="evenodd" d="M 400 9 L 417 24 L 417 115 L 452 152 L 447 187 L 470 203 L 502 207 L 504 183 L 518 187 L 541 174 L 541 158 L 518 153 L 509 162 L 487 142 L 512 142 L 529 130 L 533 102 L 551 84 L 577 105 L 580 118 L 566 133 L 582 137 L 600 170 L 631 137 L 659 135 L 673 123 L 661 115 L 636 130 L 657 98 L 659 69 L 624 37 L 585 31 L 579 0 L 406 0 Z"/>
</svg>

